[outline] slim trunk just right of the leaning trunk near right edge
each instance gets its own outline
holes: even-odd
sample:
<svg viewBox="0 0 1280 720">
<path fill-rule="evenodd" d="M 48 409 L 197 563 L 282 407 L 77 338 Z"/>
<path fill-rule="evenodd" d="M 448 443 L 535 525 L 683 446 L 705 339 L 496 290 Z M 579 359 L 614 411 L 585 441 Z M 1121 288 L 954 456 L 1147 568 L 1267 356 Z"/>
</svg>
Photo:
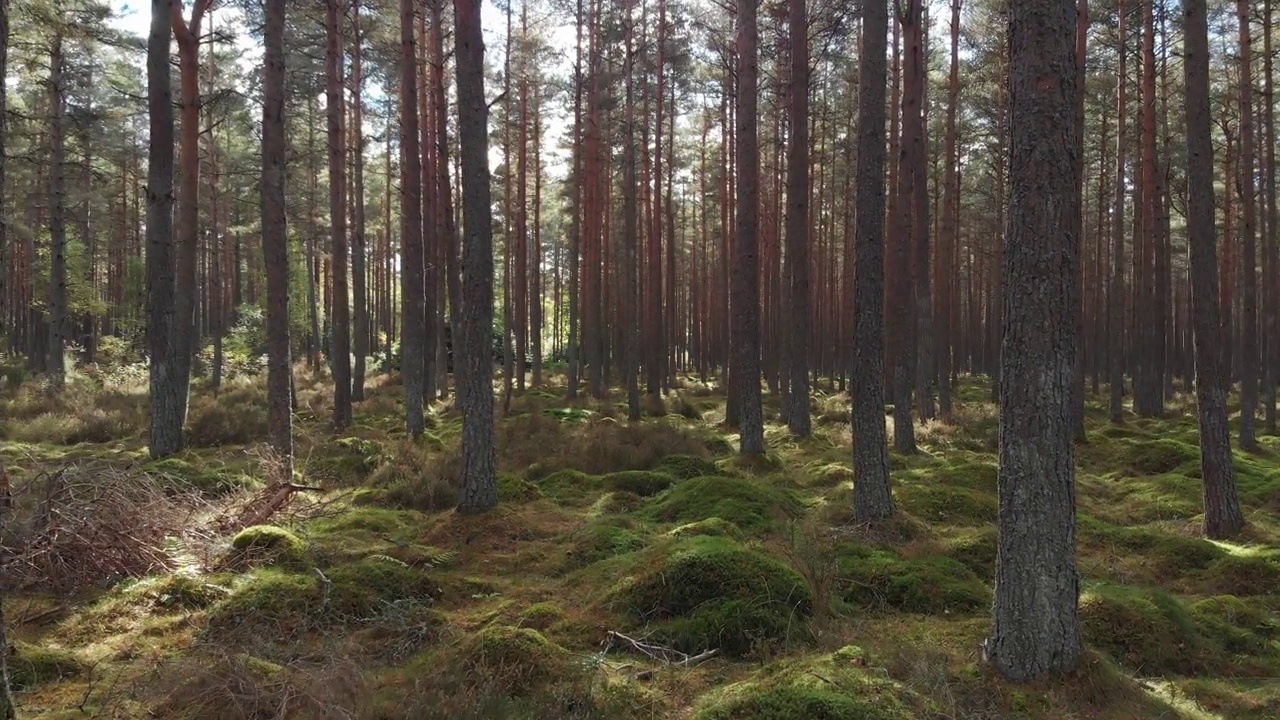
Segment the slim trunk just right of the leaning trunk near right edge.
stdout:
<svg viewBox="0 0 1280 720">
<path fill-rule="evenodd" d="M 1240 243 L 1242 263 L 1242 304 L 1244 305 L 1243 327 L 1240 328 L 1240 447 L 1257 448 L 1257 429 L 1254 414 L 1258 405 L 1258 301 L 1257 301 L 1257 233 L 1254 232 L 1256 213 L 1256 164 L 1253 146 L 1253 44 L 1249 23 L 1253 4 L 1238 0 L 1236 12 L 1240 20 Z"/>
</svg>

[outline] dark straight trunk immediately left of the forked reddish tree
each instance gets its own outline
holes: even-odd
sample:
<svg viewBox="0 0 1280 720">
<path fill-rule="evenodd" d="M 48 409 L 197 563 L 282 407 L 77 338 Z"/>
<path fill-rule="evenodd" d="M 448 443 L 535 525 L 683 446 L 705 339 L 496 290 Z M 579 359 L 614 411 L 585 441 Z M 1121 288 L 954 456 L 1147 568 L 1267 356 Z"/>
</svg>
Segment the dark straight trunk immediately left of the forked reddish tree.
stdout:
<svg viewBox="0 0 1280 720">
<path fill-rule="evenodd" d="M 147 355 L 151 375 L 151 457 L 182 448 L 186 402 L 174 379 L 173 311 L 173 82 L 169 69 L 170 22 L 174 0 L 152 0 L 147 38 Z M 164 12 L 161 17 L 159 13 Z"/>
</svg>

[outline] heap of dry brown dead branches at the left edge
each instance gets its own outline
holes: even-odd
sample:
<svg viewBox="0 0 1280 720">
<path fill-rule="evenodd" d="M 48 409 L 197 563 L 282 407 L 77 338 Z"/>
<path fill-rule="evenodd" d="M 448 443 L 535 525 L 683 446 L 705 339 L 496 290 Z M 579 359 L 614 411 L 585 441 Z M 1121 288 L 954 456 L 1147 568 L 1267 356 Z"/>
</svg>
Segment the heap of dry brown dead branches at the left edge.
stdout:
<svg viewBox="0 0 1280 720">
<path fill-rule="evenodd" d="M 14 479 L 0 589 L 73 593 L 172 569 L 166 544 L 205 503 L 146 473 L 81 460 Z"/>
</svg>

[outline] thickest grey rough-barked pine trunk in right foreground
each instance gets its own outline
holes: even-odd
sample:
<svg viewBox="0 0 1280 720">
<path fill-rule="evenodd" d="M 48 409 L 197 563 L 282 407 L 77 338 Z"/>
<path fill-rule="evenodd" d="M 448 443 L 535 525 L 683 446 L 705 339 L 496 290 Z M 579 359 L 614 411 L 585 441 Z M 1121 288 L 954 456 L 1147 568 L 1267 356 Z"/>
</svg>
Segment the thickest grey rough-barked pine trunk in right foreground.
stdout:
<svg viewBox="0 0 1280 720">
<path fill-rule="evenodd" d="M 1079 301 L 1075 9 L 1010 5 L 1010 215 L 1000 383 L 1000 551 L 987 659 L 1011 680 L 1080 660 L 1071 384 Z"/>
</svg>

